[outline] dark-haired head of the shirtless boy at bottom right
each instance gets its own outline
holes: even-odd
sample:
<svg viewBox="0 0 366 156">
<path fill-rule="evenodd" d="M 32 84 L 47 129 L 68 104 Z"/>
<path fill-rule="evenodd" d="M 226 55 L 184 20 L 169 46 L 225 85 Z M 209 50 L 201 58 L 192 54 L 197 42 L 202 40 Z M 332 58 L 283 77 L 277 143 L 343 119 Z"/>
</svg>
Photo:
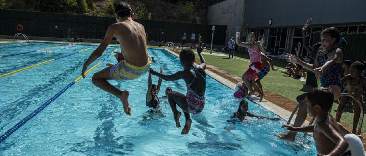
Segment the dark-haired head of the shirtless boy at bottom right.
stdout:
<svg viewBox="0 0 366 156">
<path fill-rule="evenodd" d="M 316 117 L 320 112 L 328 112 L 334 102 L 334 93 L 328 88 L 314 88 L 306 92 L 305 102 L 306 112 Z"/>
</svg>

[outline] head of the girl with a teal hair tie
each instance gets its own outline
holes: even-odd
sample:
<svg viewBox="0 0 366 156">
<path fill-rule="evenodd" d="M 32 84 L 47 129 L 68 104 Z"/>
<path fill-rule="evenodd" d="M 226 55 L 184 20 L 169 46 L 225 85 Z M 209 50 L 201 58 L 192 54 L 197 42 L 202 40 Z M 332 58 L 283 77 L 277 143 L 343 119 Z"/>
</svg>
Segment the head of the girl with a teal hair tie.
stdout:
<svg viewBox="0 0 366 156">
<path fill-rule="evenodd" d="M 330 27 L 323 30 L 320 34 L 321 44 L 324 48 L 339 46 L 342 50 L 347 49 L 347 42 L 344 38 L 341 40 L 340 33 L 337 28 Z"/>
</svg>

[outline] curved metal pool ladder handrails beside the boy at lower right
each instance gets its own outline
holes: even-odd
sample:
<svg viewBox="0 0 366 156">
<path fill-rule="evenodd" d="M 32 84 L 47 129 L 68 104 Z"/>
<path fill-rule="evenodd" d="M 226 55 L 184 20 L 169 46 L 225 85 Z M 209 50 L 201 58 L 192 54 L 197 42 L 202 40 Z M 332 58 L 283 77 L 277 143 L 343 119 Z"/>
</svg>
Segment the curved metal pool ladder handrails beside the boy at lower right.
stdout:
<svg viewBox="0 0 366 156">
<path fill-rule="evenodd" d="M 357 134 L 361 134 L 361 129 L 362 129 L 362 122 L 363 122 L 363 108 L 362 108 L 362 104 L 360 101 L 358 100 L 355 100 L 355 95 L 353 94 L 349 94 L 349 93 L 342 93 L 341 94 L 341 97 L 342 96 L 348 96 L 348 97 L 351 97 L 355 102 L 358 103 L 358 106 L 360 107 L 360 112 L 361 112 L 361 116 L 360 116 L 360 121 L 359 121 L 359 125 L 358 125 L 358 130 L 357 130 Z M 338 103 L 339 103 L 339 100 L 338 100 Z M 292 117 L 294 117 L 294 114 L 296 112 L 296 110 L 299 108 L 299 104 L 298 103 L 295 107 L 295 109 L 292 111 L 291 115 L 290 115 L 290 118 L 288 118 L 288 121 L 287 121 L 287 125 L 289 125 L 291 123 L 291 120 L 292 120 Z M 330 110 L 332 110 L 332 107 L 330 107 Z M 315 120 L 315 117 L 311 118 L 310 122 L 309 122 L 309 125 L 312 125 L 313 122 Z M 306 137 L 307 133 L 304 134 L 304 137 Z"/>
</svg>

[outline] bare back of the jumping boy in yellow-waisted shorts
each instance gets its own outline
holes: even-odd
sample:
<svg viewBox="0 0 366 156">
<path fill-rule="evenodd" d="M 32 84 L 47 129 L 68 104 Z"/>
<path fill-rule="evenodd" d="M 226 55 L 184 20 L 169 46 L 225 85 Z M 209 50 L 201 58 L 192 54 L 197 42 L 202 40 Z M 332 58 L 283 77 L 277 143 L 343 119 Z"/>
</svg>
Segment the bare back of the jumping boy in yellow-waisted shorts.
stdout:
<svg viewBox="0 0 366 156">
<path fill-rule="evenodd" d="M 146 50 L 145 28 L 131 20 L 111 25 L 114 35 L 119 39 L 124 59 L 134 66 L 144 66 L 149 59 Z"/>
</svg>

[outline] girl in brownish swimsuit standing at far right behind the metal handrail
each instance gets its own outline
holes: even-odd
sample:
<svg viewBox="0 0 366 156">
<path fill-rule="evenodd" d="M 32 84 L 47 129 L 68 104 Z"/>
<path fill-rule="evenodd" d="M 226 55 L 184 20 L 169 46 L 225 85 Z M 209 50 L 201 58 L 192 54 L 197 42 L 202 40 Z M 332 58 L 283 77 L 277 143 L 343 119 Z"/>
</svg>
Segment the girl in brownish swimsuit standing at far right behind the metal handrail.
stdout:
<svg viewBox="0 0 366 156">
<path fill-rule="evenodd" d="M 360 101 L 362 104 L 363 96 L 366 93 L 362 93 L 366 87 L 366 77 L 361 75 L 362 71 L 365 70 L 366 65 L 361 62 L 354 62 L 350 66 L 350 74 L 346 75 L 341 79 L 341 83 L 347 83 L 344 93 L 350 93 L 355 95 L 355 100 Z M 339 106 L 336 114 L 336 121 L 339 122 L 343 113 L 344 107 L 350 102 L 351 97 L 343 96 L 339 102 Z M 353 102 L 354 116 L 353 116 L 353 128 L 352 133 L 356 133 L 358 121 L 360 120 L 361 110 L 358 103 Z"/>
</svg>

